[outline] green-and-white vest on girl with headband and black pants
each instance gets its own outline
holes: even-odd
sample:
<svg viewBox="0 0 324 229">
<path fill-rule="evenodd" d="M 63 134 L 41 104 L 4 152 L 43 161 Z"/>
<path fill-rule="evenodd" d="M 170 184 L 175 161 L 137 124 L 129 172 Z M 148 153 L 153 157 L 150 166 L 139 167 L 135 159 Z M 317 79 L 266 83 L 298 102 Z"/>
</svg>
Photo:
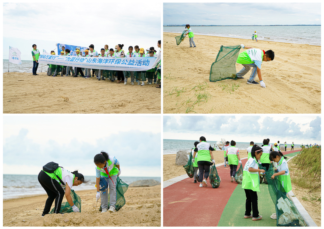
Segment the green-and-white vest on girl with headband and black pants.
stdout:
<svg viewBox="0 0 324 229">
<path fill-rule="evenodd" d="M 243 179 L 242 179 L 242 189 L 251 189 L 252 191 L 260 192 L 260 177 L 259 172 L 249 172 L 249 165 L 255 161 L 255 166 L 253 168 L 258 169 L 259 164 L 254 157 L 250 157 L 249 160 L 245 163 L 243 169 Z"/>
</svg>

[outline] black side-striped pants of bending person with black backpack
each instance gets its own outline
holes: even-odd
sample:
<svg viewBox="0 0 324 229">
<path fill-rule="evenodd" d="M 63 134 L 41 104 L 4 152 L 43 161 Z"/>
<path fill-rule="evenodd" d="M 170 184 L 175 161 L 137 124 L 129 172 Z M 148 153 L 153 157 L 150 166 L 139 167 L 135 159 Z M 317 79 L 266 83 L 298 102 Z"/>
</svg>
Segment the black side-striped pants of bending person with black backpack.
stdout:
<svg viewBox="0 0 324 229">
<path fill-rule="evenodd" d="M 61 204 L 64 197 L 64 190 L 60 183 L 52 177 L 48 176 L 44 171 L 38 174 L 38 181 L 41 186 L 45 189 L 48 198 L 45 202 L 43 214 L 46 215 L 51 211 L 51 206 L 55 200 L 54 213 L 60 213 Z"/>
</svg>

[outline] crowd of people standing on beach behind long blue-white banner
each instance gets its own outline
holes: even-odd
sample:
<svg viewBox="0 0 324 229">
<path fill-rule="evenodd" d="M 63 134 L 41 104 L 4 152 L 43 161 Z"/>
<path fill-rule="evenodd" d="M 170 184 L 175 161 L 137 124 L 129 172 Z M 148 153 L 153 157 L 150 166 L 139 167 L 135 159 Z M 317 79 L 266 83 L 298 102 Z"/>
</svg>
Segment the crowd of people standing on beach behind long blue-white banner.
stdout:
<svg viewBox="0 0 324 229">
<path fill-rule="evenodd" d="M 147 48 L 139 48 L 136 46 L 129 46 L 128 52 L 125 53 L 123 50 L 123 44 L 118 44 L 115 46 L 115 49 L 109 49 L 108 45 L 105 45 L 104 48 L 100 49 L 100 53 L 98 53 L 94 49 L 94 45 L 90 44 L 89 48 L 84 51 L 84 55 L 80 51 L 80 47 L 77 47 L 74 52 L 77 56 L 91 56 L 98 58 L 123 58 L 123 57 L 156 57 L 155 62 L 153 63 L 153 68 L 147 71 L 115 71 L 115 70 L 103 70 L 103 69 L 91 69 L 91 68 L 80 68 L 80 67 L 72 67 L 72 66 L 64 66 L 64 65 L 55 65 L 48 64 L 48 70 L 46 75 L 51 76 L 72 76 L 72 77 L 84 77 L 86 79 L 93 77 L 96 75 L 96 79 L 100 80 L 110 80 L 110 82 L 116 81 L 116 83 L 124 83 L 127 85 L 128 78 L 131 78 L 130 85 L 145 86 L 146 84 L 152 85 L 156 84 L 156 88 L 161 88 L 161 40 L 158 40 L 157 46 L 160 48 L 159 51 L 156 51 L 154 47 Z M 145 53 L 146 52 L 146 53 Z M 36 44 L 33 44 L 32 57 L 33 57 L 33 75 L 38 75 L 38 59 L 40 52 L 37 49 Z M 51 51 L 51 55 L 56 55 L 54 51 Z M 65 49 L 62 46 L 62 51 L 60 52 L 62 56 L 71 56 L 71 50 Z M 91 76 L 92 70 L 92 76 Z"/>
</svg>

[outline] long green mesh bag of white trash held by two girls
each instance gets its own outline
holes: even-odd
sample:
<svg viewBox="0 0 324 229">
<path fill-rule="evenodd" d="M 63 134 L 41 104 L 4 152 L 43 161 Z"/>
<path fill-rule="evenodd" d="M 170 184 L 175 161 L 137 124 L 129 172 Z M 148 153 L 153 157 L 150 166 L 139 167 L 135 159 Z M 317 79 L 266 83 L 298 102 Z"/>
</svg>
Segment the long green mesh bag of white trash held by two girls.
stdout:
<svg viewBox="0 0 324 229">
<path fill-rule="evenodd" d="M 286 196 L 286 192 L 280 184 L 279 177 L 271 179 L 274 174 L 272 164 L 269 170 L 266 171 L 265 178 L 268 180 L 269 194 L 275 204 L 277 214 L 277 226 L 303 226 L 306 224 L 298 212 L 295 204 Z"/>
</svg>

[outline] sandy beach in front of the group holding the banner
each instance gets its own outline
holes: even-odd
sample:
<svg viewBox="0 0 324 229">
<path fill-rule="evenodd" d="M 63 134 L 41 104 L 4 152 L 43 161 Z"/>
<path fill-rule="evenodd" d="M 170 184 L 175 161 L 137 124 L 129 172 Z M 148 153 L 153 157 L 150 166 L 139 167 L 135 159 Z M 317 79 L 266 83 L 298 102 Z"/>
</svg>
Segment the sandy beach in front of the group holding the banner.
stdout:
<svg viewBox="0 0 324 229">
<path fill-rule="evenodd" d="M 3 113 L 161 113 L 156 84 L 37 74 L 3 74 Z"/>
</svg>

